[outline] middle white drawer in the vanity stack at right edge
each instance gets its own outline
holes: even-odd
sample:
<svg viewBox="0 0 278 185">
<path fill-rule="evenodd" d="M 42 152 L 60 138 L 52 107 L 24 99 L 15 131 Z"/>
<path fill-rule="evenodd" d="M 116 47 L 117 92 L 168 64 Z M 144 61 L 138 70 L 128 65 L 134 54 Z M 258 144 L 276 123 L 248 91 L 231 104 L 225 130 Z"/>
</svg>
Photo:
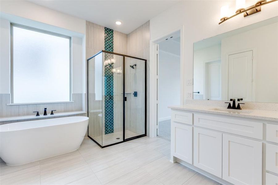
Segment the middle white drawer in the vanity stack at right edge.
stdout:
<svg viewBox="0 0 278 185">
<path fill-rule="evenodd" d="M 266 170 L 278 174 L 278 145 L 266 144 Z"/>
</svg>

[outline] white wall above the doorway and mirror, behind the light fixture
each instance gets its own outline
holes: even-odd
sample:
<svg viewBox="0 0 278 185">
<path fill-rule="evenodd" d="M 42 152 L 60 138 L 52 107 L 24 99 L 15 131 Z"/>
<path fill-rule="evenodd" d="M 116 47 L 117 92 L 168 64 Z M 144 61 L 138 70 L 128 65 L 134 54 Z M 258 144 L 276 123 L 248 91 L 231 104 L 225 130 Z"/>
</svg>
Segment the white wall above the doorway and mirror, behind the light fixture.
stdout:
<svg viewBox="0 0 278 185">
<path fill-rule="evenodd" d="M 278 2 L 272 2 L 264 5 L 262 11 L 257 14 L 246 18 L 239 15 L 218 25 L 220 8 L 223 5 L 230 5 L 234 10 L 235 1 L 182 1 L 150 20 L 151 40 L 184 27 L 185 79 L 193 78 L 194 42 L 278 16 Z M 185 85 L 185 94 L 188 91 L 193 91 L 193 85 Z"/>
</svg>

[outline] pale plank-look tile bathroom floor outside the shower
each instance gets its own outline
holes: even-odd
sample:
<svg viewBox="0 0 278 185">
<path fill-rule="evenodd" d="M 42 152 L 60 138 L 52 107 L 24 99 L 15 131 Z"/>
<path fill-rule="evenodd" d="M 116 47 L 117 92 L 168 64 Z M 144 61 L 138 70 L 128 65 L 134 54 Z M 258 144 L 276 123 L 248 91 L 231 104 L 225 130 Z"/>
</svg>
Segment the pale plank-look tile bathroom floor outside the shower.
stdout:
<svg viewBox="0 0 278 185">
<path fill-rule="evenodd" d="M 85 137 L 68 154 L 20 166 L 1 160 L 0 184 L 219 184 L 169 159 L 165 139 L 143 137 L 102 149 Z"/>
</svg>

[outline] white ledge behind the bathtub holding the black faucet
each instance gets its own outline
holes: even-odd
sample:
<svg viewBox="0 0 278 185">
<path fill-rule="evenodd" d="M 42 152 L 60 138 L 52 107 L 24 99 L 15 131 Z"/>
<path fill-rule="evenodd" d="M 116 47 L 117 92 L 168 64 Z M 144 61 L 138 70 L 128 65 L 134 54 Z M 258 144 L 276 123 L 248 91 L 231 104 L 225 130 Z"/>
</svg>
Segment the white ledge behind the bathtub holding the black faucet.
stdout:
<svg viewBox="0 0 278 185">
<path fill-rule="evenodd" d="M 73 112 L 61 112 L 61 113 L 54 113 L 54 115 L 41 115 L 41 116 L 36 116 L 35 114 L 33 115 L 26 115 L 26 116 L 13 116 L 13 117 L 1 117 L 1 121 L 15 121 L 15 120 L 26 120 L 26 119 L 44 119 L 46 117 L 51 118 L 51 117 L 57 117 L 57 116 L 66 116 L 66 115 L 74 115 L 74 114 L 85 114 L 87 112 L 85 111 L 73 111 Z"/>
</svg>

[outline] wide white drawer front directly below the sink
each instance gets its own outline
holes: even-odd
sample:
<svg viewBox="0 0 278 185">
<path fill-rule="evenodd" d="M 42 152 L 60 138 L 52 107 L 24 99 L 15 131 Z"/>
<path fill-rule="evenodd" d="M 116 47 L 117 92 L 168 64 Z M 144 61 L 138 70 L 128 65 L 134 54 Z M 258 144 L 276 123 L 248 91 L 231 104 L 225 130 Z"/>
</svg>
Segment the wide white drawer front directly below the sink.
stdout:
<svg viewBox="0 0 278 185">
<path fill-rule="evenodd" d="M 194 125 L 250 138 L 263 139 L 263 123 L 194 114 Z"/>
</svg>

